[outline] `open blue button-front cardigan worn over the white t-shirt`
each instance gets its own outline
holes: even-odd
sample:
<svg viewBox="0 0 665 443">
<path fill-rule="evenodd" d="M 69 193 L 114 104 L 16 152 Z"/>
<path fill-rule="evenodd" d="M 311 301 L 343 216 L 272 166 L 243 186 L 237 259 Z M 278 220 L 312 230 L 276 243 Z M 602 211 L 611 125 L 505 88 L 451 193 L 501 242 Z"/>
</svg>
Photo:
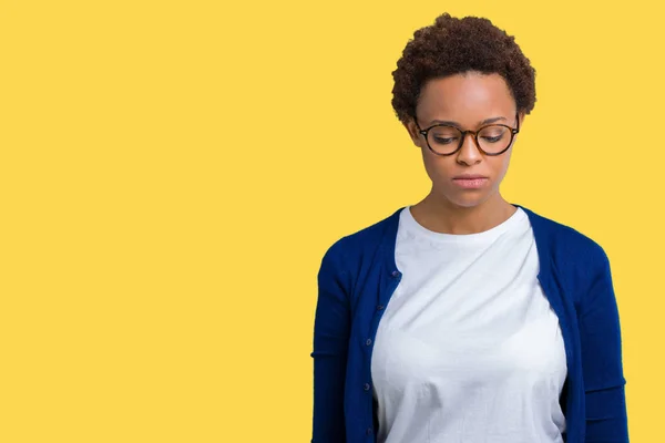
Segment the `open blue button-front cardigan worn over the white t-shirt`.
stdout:
<svg viewBox="0 0 665 443">
<path fill-rule="evenodd" d="M 564 441 L 626 443 L 626 380 L 607 256 L 575 229 L 514 206 L 529 215 L 540 260 L 538 279 L 562 329 L 567 364 L 560 398 Z M 376 442 L 371 352 L 402 276 L 395 262 L 401 209 L 340 238 L 323 257 L 311 352 L 313 443 Z"/>
</svg>

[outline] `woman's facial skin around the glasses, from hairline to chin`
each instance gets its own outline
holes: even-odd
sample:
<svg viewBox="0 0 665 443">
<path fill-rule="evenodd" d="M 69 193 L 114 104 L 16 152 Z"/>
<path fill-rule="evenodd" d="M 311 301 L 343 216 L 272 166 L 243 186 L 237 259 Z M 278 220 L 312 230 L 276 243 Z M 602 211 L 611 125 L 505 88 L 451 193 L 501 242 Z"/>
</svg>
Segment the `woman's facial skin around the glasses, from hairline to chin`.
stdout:
<svg viewBox="0 0 665 443">
<path fill-rule="evenodd" d="M 477 131 L 491 123 L 516 127 L 516 107 L 508 84 L 499 74 L 469 72 L 428 81 L 420 92 L 416 115 L 420 128 L 427 130 L 436 120 L 452 122 L 461 131 Z M 523 115 L 520 116 L 520 127 Z M 432 197 L 456 207 L 478 206 L 499 196 L 499 185 L 505 176 L 511 147 L 501 155 L 484 155 L 471 134 L 454 154 L 440 156 L 431 152 L 413 121 L 407 125 L 413 143 L 420 147 L 424 168 L 432 181 Z M 515 143 L 513 140 L 513 145 Z M 485 177 L 464 181 L 462 174 Z"/>
</svg>

